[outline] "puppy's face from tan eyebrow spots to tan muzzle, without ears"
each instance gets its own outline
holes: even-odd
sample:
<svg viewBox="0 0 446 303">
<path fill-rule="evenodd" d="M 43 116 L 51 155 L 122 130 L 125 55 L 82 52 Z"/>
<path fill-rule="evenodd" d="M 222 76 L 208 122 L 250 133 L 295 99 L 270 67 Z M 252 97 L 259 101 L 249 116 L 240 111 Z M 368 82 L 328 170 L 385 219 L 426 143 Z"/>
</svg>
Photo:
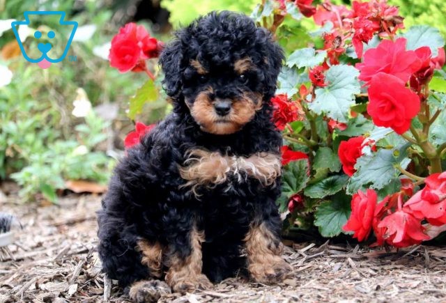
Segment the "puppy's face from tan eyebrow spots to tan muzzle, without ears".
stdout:
<svg viewBox="0 0 446 303">
<path fill-rule="evenodd" d="M 183 95 L 201 130 L 232 134 L 251 121 L 262 106 L 260 75 L 249 56 L 220 66 L 190 60 L 185 69 Z"/>
</svg>

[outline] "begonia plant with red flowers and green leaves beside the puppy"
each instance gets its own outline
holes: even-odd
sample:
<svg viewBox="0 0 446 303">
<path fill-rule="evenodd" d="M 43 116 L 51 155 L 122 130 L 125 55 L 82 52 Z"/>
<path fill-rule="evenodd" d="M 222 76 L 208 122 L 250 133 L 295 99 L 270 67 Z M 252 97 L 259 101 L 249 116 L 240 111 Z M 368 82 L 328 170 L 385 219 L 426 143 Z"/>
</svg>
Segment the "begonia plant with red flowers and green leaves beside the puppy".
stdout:
<svg viewBox="0 0 446 303">
<path fill-rule="evenodd" d="M 281 11 L 274 14 L 281 17 L 272 18 L 275 24 L 269 28 L 281 38 L 276 30 L 290 4 L 279 3 Z M 376 245 L 407 247 L 445 231 L 446 142 L 439 133 L 446 98 L 432 89 L 444 78 L 444 71 L 436 71 L 445 65 L 444 39 L 429 26 L 398 33 L 403 17 L 386 0 L 353 1 L 351 8 L 330 0 L 318 5 L 295 1 L 295 6 L 323 26 L 323 46 L 308 43 L 310 48 L 321 45 L 314 52 L 305 50 L 313 58 L 296 60 L 300 50 L 291 54 L 288 67 L 295 68 L 299 81 L 308 80 L 298 82 L 298 90 L 281 82 L 288 95 L 272 98 L 273 121 L 286 143 L 282 210 L 287 206 L 291 218 L 298 218 L 295 224 L 314 224 L 324 236 L 343 230 L 364 241 L 373 234 Z M 428 34 L 420 38 L 422 31 Z M 297 166 L 290 163 L 301 159 L 311 164 L 307 188 L 293 183 L 306 178 L 292 176 Z M 386 187 L 390 182 L 393 194 Z M 337 194 L 352 195 L 345 224 L 345 208 L 336 209 L 341 204 Z M 314 222 L 305 222 L 309 211 Z M 331 224 L 334 217 L 342 222 L 339 229 Z"/>
</svg>

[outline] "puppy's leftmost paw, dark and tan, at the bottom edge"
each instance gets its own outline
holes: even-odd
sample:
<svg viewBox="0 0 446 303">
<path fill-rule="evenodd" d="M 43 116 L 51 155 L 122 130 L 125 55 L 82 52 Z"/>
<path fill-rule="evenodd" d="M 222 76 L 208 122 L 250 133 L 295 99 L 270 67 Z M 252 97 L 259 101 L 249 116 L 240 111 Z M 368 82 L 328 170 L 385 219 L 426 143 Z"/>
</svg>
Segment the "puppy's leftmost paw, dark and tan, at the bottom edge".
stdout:
<svg viewBox="0 0 446 303">
<path fill-rule="evenodd" d="M 167 283 L 160 280 L 139 281 L 130 288 L 130 299 L 134 302 L 157 302 L 163 295 L 171 293 Z"/>
</svg>

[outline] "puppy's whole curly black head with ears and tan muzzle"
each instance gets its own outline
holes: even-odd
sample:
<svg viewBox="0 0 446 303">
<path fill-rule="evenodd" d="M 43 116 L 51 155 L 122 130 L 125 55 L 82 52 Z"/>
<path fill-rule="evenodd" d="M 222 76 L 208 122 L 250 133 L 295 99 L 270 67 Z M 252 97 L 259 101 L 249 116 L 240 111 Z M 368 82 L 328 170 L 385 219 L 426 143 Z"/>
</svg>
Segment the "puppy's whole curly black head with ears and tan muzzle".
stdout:
<svg viewBox="0 0 446 303">
<path fill-rule="evenodd" d="M 177 113 L 187 111 L 204 132 L 233 134 L 268 108 L 283 58 L 266 29 L 224 11 L 178 31 L 160 63 Z"/>
</svg>

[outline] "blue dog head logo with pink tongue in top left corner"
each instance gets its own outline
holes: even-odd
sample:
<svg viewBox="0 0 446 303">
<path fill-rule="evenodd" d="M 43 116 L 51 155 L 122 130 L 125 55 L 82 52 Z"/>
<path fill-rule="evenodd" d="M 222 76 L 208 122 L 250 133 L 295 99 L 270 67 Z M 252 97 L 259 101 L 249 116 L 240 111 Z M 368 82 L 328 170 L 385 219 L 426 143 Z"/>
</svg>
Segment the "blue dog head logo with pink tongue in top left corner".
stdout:
<svg viewBox="0 0 446 303">
<path fill-rule="evenodd" d="M 17 27 L 20 25 L 29 25 L 31 23 L 30 16 L 35 15 L 36 17 L 44 17 L 44 16 L 60 16 L 59 24 L 60 26 L 72 26 L 71 33 L 68 36 L 68 41 L 66 42 L 65 47 L 63 48 L 63 53 L 61 55 L 56 55 L 56 57 L 53 57 L 54 54 L 51 52 L 54 46 L 54 40 L 57 40 L 56 36 L 57 33 L 54 33 L 54 31 L 48 31 L 45 33 L 45 36 L 43 35 L 42 31 L 34 31 L 34 38 L 38 41 L 37 45 L 37 52 L 32 52 L 33 54 L 29 54 L 26 52 L 26 49 L 23 46 L 22 40 L 20 39 L 19 31 L 17 31 Z M 20 50 L 22 51 L 22 54 L 26 61 L 29 61 L 31 63 L 38 63 L 40 68 L 49 68 L 49 66 L 52 63 L 58 63 L 61 62 L 63 59 L 65 59 L 66 55 L 68 54 L 68 49 L 70 48 L 72 38 L 75 36 L 76 29 L 77 29 L 77 22 L 75 21 L 65 21 L 66 13 L 62 11 L 26 11 L 24 12 L 24 21 L 14 21 L 11 23 L 11 26 L 13 28 L 15 38 L 17 39 L 17 42 L 19 43 Z M 60 33 L 59 33 L 60 34 Z M 60 40 L 60 39 L 59 39 Z M 58 41 L 59 41 L 58 40 Z"/>
</svg>

